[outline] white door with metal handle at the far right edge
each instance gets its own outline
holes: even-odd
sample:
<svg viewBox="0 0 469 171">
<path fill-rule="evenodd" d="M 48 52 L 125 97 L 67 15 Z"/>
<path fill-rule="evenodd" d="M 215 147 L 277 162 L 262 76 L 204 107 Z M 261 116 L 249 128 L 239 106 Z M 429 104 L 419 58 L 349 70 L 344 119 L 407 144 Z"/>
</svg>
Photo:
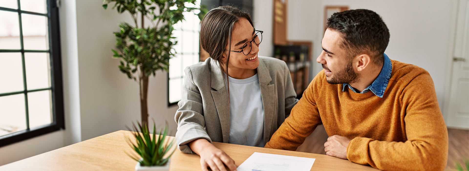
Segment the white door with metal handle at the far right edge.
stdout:
<svg viewBox="0 0 469 171">
<path fill-rule="evenodd" d="M 446 125 L 469 129 L 469 0 L 457 0 Z"/>
</svg>

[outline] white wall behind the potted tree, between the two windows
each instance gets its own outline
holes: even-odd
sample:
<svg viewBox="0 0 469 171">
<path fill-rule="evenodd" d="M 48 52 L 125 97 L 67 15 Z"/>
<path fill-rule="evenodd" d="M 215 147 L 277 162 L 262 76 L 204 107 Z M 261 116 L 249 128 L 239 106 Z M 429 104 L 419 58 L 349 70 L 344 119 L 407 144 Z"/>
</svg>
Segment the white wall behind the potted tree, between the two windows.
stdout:
<svg viewBox="0 0 469 171">
<path fill-rule="evenodd" d="M 119 69 L 119 59 L 112 58 L 113 31 L 122 21 L 133 23 L 127 13 L 118 14 L 102 1 L 77 0 L 78 70 L 82 141 L 126 129 L 132 120 L 140 120 L 138 83 L 129 80 Z M 150 78 L 149 113 L 157 125 L 165 120 L 175 134 L 174 113 L 167 107 L 167 75 L 157 72 Z"/>
</svg>

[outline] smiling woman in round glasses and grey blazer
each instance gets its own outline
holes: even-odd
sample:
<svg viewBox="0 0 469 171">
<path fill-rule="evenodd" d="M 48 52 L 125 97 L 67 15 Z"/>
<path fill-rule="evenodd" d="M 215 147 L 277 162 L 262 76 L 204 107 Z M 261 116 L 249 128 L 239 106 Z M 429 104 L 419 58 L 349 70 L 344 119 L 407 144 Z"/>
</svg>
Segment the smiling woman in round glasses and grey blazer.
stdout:
<svg viewBox="0 0 469 171">
<path fill-rule="evenodd" d="M 250 15 L 222 6 L 205 15 L 200 43 L 210 58 L 185 69 L 176 140 L 202 170 L 235 170 L 212 141 L 264 147 L 298 101 L 287 64 L 258 56 L 263 31 Z"/>
</svg>

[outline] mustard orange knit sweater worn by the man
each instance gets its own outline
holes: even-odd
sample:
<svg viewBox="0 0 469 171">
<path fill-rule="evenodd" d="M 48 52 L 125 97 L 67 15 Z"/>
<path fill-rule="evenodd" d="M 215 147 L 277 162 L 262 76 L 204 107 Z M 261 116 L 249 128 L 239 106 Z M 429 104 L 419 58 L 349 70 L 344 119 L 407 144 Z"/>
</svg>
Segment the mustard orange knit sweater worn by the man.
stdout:
<svg viewBox="0 0 469 171">
<path fill-rule="evenodd" d="M 265 148 L 296 150 L 322 122 L 329 136 L 352 139 L 347 147 L 351 162 L 387 171 L 443 170 L 448 133 L 430 74 L 399 61 L 392 64 L 383 98 L 371 91 L 342 92 L 342 84 L 326 82 L 323 70 Z"/>
</svg>

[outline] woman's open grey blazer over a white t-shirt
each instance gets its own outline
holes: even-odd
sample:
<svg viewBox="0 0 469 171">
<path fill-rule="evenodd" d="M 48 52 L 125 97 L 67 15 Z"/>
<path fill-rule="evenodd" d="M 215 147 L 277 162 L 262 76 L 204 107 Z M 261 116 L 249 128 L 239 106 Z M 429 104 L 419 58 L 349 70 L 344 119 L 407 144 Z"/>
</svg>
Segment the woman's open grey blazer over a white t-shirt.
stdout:
<svg viewBox="0 0 469 171">
<path fill-rule="evenodd" d="M 194 153 L 187 143 L 199 138 L 228 143 L 230 104 L 224 74 L 212 58 L 184 70 L 182 99 L 174 120 L 176 141 L 184 153 Z M 264 142 L 279 128 L 298 102 L 287 64 L 280 59 L 259 56 L 257 67 L 264 106 Z M 248 99 L 246 99 L 248 100 Z"/>
</svg>

